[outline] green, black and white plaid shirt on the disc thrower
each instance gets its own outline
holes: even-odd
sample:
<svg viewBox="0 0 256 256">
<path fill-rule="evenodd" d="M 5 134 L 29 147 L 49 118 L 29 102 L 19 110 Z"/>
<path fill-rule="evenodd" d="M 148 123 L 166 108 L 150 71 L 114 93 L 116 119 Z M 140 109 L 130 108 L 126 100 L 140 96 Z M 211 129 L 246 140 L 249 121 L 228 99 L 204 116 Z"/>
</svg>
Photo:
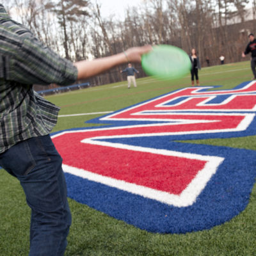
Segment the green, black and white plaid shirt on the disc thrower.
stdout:
<svg viewBox="0 0 256 256">
<path fill-rule="evenodd" d="M 0 153 L 28 138 L 49 134 L 60 108 L 33 84 L 72 84 L 77 68 L 42 45 L 0 4 Z"/>
</svg>

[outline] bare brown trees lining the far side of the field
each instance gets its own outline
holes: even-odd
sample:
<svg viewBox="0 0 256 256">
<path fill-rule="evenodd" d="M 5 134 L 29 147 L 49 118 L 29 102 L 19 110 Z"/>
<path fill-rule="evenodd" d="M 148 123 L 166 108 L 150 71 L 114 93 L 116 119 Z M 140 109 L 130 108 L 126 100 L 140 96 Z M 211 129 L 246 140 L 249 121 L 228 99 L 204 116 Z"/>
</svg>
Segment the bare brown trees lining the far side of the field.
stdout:
<svg viewBox="0 0 256 256">
<path fill-rule="evenodd" d="M 102 16 L 97 0 L 3 0 L 22 22 L 61 56 L 72 61 L 92 60 L 145 44 L 171 44 L 191 52 L 202 66 L 241 61 L 248 33 L 256 30 L 256 0 L 144 0 L 127 8 L 124 19 Z M 171 61 L 171 60 L 170 60 Z M 113 68 L 90 79 L 107 84 L 125 79 Z M 124 68 L 124 67 L 123 67 Z M 145 76 L 141 67 L 139 77 Z M 82 81 L 83 82 L 83 81 Z"/>
</svg>

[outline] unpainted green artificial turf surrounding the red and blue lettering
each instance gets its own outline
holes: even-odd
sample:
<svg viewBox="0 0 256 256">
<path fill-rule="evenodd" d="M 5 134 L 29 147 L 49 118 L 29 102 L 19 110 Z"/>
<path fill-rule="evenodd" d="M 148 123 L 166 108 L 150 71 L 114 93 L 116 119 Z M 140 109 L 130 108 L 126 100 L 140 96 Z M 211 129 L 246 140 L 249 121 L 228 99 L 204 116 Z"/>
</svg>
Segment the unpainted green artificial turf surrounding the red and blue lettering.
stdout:
<svg viewBox="0 0 256 256">
<path fill-rule="evenodd" d="M 199 72 L 200 85 L 231 89 L 252 79 L 250 63 L 232 63 Z M 95 126 L 85 121 L 103 115 L 61 116 L 116 111 L 144 100 L 190 86 L 189 76 L 175 81 L 137 79 L 138 88 L 126 83 L 96 86 L 47 97 L 61 107 L 53 131 Z M 256 150 L 256 136 L 190 141 Z M 255 166 L 256 168 L 256 166 Z M 0 171 L 0 255 L 28 255 L 30 210 L 19 181 Z M 256 255 L 256 186 L 246 209 L 223 225 L 187 234 L 152 234 L 69 200 L 72 227 L 65 255 Z"/>
</svg>

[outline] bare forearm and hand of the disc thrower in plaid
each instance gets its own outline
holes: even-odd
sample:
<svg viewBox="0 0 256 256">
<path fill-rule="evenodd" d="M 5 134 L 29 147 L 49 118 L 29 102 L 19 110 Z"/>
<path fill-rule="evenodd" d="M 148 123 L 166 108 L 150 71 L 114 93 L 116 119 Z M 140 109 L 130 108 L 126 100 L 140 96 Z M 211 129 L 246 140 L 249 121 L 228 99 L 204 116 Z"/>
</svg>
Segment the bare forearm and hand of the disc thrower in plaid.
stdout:
<svg viewBox="0 0 256 256">
<path fill-rule="evenodd" d="M 145 45 L 142 47 L 133 47 L 128 49 L 126 55 L 124 52 L 115 54 L 113 56 L 99 58 L 93 61 L 78 61 L 74 63 L 77 67 L 78 74 L 77 79 L 86 79 L 88 77 L 96 76 L 110 68 L 115 67 L 127 61 L 131 62 L 141 62 L 141 55 L 152 50 L 150 45 Z"/>
</svg>

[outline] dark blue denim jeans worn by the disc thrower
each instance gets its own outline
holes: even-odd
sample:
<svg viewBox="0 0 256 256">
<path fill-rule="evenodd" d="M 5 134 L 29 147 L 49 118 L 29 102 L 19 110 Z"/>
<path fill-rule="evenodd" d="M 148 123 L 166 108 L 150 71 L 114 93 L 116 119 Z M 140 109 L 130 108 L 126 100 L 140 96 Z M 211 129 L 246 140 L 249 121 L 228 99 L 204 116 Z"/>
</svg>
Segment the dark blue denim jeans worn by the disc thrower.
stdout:
<svg viewBox="0 0 256 256">
<path fill-rule="evenodd" d="M 62 159 L 51 137 L 22 141 L 0 154 L 0 166 L 17 177 L 31 208 L 30 256 L 61 256 L 71 214 Z"/>
</svg>

